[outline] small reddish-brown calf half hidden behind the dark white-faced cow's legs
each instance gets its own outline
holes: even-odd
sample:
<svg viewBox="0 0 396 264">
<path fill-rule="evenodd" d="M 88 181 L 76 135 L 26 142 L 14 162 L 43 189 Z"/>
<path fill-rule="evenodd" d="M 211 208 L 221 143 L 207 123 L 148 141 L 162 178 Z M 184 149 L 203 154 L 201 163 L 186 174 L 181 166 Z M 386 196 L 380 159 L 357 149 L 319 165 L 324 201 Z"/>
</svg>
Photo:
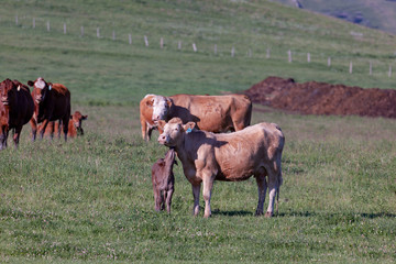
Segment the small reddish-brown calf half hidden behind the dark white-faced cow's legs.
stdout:
<svg viewBox="0 0 396 264">
<path fill-rule="evenodd" d="M 75 113 L 70 116 L 70 120 L 68 122 L 67 136 L 76 138 L 77 135 L 84 135 L 82 120 L 86 120 L 88 116 L 82 116 L 80 111 L 75 111 Z M 58 121 L 50 122 L 44 134 L 53 136 L 54 133 L 57 133 L 58 138 L 61 138 L 59 127 L 61 124 Z"/>
</svg>

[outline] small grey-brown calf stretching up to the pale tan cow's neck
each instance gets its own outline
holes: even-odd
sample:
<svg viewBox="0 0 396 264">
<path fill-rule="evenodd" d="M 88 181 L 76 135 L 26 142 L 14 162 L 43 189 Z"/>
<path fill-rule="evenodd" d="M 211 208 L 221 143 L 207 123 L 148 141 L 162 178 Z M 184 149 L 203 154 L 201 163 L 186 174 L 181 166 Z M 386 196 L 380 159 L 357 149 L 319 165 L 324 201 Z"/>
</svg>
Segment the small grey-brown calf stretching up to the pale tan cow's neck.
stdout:
<svg viewBox="0 0 396 264">
<path fill-rule="evenodd" d="M 175 176 L 173 165 L 175 161 L 175 150 L 169 148 L 165 158 L 160 158 L 152 167 L 152 182 L 154 190 L 155 210 L 166 210 L 170 213 L 172 195 L 175 189 Z"/>
</svg>

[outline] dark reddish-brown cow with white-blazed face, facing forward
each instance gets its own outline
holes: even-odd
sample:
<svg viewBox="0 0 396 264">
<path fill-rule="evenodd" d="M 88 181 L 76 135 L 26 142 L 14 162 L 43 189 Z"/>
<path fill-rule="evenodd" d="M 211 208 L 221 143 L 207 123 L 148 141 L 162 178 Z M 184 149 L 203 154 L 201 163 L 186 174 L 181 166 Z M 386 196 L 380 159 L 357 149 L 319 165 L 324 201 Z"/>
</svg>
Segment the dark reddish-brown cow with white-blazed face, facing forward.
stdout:
<svg viewBox="0 0 396 264">
<path fill-rule="evenodd" d="M 70 92 L 61 84 L 46 82 L 43 78 L 35 81 L 29 80 L 28 85 L 33 87 L 34 114 L 31 119 L 33 141 L 36 138 L 37 124 L 41 139 L 51 121 L 59 120 L 63 124 L 65 141 L 67 140 L 68 122 L 70 119 Z"/>
</svg>

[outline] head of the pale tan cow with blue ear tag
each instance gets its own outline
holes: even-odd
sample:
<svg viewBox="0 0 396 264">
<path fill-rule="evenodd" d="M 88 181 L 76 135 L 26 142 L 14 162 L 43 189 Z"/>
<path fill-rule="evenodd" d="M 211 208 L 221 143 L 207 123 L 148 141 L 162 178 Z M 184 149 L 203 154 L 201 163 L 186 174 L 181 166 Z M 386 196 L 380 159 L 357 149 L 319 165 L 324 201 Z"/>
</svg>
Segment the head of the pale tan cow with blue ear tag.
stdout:
<svg viewBox="0 0 396 264">
<path fill-rule="evenodd" d="M 173 118 L 167 123 L 160 120 L 158 127 L 164 132 L 158 136 L 158 143 L 169 147 L 177 146 L 184 141 L 185 134 L 189 133 L 195 125 L 195 122 L 183 124 L 183 121 L 179 118 Z"/>
</svg>

